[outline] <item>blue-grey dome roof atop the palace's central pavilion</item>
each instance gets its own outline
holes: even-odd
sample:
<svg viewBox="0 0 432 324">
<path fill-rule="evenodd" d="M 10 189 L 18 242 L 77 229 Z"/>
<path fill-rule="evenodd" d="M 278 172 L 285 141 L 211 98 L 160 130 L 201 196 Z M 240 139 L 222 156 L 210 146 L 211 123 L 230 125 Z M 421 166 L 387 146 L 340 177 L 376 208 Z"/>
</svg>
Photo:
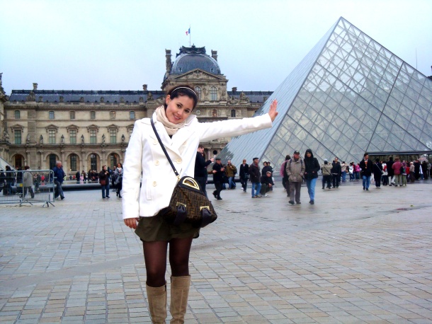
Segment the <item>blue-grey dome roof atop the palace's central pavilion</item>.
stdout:
<svg viewBox="0 0 432 324">
<path fill-rule="evenodd" d="M 205 54 L 205 47 L 184 47 L 176 55 L 170 74 L 184 74 L 194 69 L 201 69 L 211 74 L 221 74 L 216 59 Z"/>
</svg>

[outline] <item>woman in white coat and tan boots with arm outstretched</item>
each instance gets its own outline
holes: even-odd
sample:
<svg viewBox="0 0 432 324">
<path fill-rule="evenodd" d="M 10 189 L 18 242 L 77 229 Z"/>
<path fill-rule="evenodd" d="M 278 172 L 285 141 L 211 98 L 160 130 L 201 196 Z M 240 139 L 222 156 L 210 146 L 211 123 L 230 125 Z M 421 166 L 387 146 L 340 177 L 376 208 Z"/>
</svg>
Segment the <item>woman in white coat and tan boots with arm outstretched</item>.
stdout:
<svg viewBox="0 0 432 324">
<path fill-rule="evenodd" d="M 200 141 L 234 137 L 271 127 L 278 112 L 277 101 L 268 114 L 242 120 L 198 122 L 191 115 L 198 96 L 191 86 L 176 86 L 166 95 L 163 106 L 152 115 L 161 141 L 171 160 L 184 175 L 193 176 Z M 142 184 L 140 189 L 140 178 Z M 153 323 L 166 319 L 166 255 L 169 245 L 171 266 L 171 323 L 183 323 L 191 284 L 189 253 L 199 229 L 190 224 L 174 226 L 159 214 L 169 205 L 177 177 L 154 134 L 150 118 L 135 122 L 123 169 L 123 219 L 135 229 L 144 249 L 147 299 Z M 137 221 L 139 223 L 137 224 Z"/>
</svg>

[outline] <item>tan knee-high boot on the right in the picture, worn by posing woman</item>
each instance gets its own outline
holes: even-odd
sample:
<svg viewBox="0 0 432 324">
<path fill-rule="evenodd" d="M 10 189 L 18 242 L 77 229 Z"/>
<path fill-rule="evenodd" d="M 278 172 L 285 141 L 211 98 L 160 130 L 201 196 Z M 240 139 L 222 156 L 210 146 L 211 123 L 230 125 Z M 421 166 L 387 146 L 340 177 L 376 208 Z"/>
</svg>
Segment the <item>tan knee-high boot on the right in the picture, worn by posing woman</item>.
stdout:
<svg viewBox="0 0 432 324">
<path fill-rule="evenodd" d="M 169 306 L 169 311 L 173 316 L 171 324 L 185 323 L 190 286 L 191 276 L 171 277 L 171 306 Z"/>
</svg>

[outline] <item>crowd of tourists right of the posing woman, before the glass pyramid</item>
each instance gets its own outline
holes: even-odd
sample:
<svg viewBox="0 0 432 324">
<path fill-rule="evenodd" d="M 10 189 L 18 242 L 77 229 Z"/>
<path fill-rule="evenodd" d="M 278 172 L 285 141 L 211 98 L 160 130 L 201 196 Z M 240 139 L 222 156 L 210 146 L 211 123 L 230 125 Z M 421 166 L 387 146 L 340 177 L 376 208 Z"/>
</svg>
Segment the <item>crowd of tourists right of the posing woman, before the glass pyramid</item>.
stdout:
<svg viewBox="0 0 432 324">
<path fill-rule="evenodd" d="M 205 195 L 205 185 L 207 183 L 207 168 L 214 160 L 205 161 L 204 147 L 200 146 L 195 162 L 195 179 L 200 183 Z M 264 161 L 262 168 L 259 166 L 259 159 L 253 158 L 249 166 L 246 159 L 239 167 L 239 180 L 241 188 L 246 192 L 247 182 L 251 182 L 251 197 L 268 197 L 267 192 L 273 190 L 274 178 L 271 163 Z M 285 156 L 285 161 L 280 166 L 280 176 L 282 185 L 287 191 L 290 204 L 301 204 L 300 190 L 302 183 L 306 183 L 309 194 L 309 204 L 315 203 L 315 186 L 319 173 L 322 175 L 322 189 L 339 188 L 341 183 L 346 181 L 362 180 L 363 190 L 368 191 L 370 184 L 380 188 L 381 185 L 395 187 L 406 186 L 407 183 L 414 183 L 418 180 L 428 180 L 431 175 L 431 163 L 428 161 L 401 161 L 399 157 L 390 157 L 388 161 L 381 161 L 375 158 L 373 161 L 368 154 L 364 154 L 362 161 L 355 163 L 339 161 L 335 157 L 331 163 L 324 159 L 324 163 L 319 164 L 311 149 L 307 149 L 304 158 L 300 157 L 300 151 L 294 151 L 292 157 Z M 222 164 L 220 158 L 215 158 L 210 174 L 213 175 L 215 190 L 212 192 L 217 200 L 221 200 L 220 192 L 224 189 L 236 189 L 234 181 L 237 174 L 237 167 L 231 161 Z"/>
</svg>

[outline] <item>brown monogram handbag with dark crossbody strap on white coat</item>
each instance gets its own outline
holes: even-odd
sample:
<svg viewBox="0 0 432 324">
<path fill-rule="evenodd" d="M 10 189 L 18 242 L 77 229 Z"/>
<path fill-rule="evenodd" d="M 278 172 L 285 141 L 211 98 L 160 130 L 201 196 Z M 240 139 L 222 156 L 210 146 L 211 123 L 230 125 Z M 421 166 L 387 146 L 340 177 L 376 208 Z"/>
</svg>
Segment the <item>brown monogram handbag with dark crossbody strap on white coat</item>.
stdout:
<svg viewBox="0 0 432 324">
<path fill-rule="evenodd" d="M 176 167 L 174 167 L 159 134 L 157 134 L 153 120 L 151 122 L 154 134 L 156 134 L 159 144 L 161 144 L 161 148 L 164 150 L 164 154 L 171 164 L 171 168 L 173 168 L 174 173 L 179 178 Z M 217 219 L 217 214 L 212 203 L 208 197 L 205 197 L 198 182 L 188 175 L 178 180 L 171 195 L 169 206 L 162 209 L 160 214 L 170 224 L 178 226 L 185 222 L 192 224 L 195 228 L 205 227 Z"/>
</svg>

